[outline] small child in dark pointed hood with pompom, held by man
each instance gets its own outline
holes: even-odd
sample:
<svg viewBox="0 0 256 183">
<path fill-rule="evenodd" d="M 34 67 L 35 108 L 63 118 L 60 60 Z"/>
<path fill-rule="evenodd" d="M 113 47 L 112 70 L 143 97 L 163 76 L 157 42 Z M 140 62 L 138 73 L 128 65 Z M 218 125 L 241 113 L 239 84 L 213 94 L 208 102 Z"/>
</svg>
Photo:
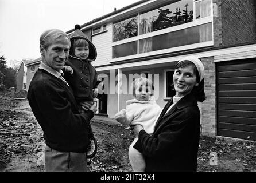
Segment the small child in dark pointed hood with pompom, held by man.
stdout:
<svg viewBox="0 0 256 183">
<path fill-rule="evenodd" d="M 70 36 L 71 47 L 69 57 L 64 66 L 64 78 L 72 88 L 76 101 L 94 102 L 94 98 L 98 95 L 97 77 L 98 74 L 91 65 L 97 57 L 97 51 L 92 42 L 80 30 L 80 25 L 75 26 L 74 33 Z M 82 106 L 79 106 L 79 112 L 84 113 Z M 87 159 L 95 156 L 97 150 L 96 140 L 92 133 L 91 124 L 89 123 L 89 145 L 87 148 Z M 90 164 L 90 160 L 87 160 Z"/>
</svg>

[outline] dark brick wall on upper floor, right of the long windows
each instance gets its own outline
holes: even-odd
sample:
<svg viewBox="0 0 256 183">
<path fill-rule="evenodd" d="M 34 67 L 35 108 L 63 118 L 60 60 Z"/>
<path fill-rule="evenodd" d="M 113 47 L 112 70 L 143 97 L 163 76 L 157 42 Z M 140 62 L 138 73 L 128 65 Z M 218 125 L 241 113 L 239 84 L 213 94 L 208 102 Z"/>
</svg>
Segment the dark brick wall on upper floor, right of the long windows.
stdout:
<svg viewBox="0 0 256 183">
<path fill-rule="evenodd" d="M 251 0 L 222 0 L 224 46 L 255 41 L 255 11 Z"/>
</svg>

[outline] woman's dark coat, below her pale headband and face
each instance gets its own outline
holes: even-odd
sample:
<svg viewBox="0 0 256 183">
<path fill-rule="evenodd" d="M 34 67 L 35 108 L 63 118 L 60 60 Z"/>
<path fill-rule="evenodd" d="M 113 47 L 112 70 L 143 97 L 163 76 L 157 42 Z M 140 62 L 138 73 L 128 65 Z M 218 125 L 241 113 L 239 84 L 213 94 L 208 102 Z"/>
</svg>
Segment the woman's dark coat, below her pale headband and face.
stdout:
<svg viewBox="0 0 256 183">
<path fill-rule="evenodd" d="M 188 94 L 166 113 L 172 104 L 170 100 L 165 105 L 152 135 L 139 132 L 134 148 L 145 157 L 146 171 L 196 171 L 200 133 L 196 98 Z"/>
</svg>

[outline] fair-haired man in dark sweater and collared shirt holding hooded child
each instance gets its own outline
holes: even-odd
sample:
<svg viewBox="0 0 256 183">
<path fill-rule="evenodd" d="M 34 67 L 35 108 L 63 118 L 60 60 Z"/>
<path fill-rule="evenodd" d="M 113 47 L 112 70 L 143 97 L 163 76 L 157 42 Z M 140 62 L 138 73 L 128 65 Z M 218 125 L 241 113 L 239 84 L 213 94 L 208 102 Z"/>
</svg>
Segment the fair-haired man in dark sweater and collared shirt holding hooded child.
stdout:
<svg viewBox="0 0 256 183">
<path fill-rule="evenodd" d="M 68 58 L 70 40 L 58 29 L 46 30 L 40 37 L 41 65 L 34 74 L 28 101 L 44 131 L 45 171 L 87 171 L 88 121 L 96 104 L 78 104 L 68 83 L 62 77 Z"/>
</svg>

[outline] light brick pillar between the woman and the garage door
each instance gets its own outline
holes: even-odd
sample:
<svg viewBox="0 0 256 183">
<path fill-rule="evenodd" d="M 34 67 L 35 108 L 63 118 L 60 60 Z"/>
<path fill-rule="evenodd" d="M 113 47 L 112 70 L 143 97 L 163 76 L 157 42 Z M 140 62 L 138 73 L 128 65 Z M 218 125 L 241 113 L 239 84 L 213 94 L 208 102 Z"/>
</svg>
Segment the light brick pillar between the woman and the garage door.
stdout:
<svg viewBox="0 0 256 183">
<path fill-rule="evenodd" d="M 215 137 L 216 126 L 216 85 L 214 57 L 201 58 L 205 69 L 204 91 L 206 100 L 202 104 L 202 133 Z"/>
</svg>

